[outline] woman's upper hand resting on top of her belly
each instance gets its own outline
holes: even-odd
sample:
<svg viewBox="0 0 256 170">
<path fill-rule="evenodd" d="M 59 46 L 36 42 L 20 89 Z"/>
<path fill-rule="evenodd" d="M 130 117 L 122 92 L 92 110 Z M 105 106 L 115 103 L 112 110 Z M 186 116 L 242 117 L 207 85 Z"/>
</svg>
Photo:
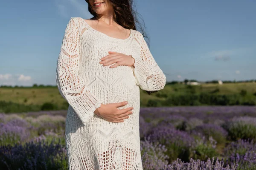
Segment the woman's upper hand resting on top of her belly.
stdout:
<svg viewBox="0 0 256 170">
<path fill-rule="evenodd" d="M 116 63 L 114 65 L 111 65 L 110 68 L 117 67 L 119 65 L 127 65 L 127 66 L 133 66 L 134 67 L 134 58 L 122 53 L 117 53 L 113 51 L 108 51 L 109 55 L 102 57 L 100 64 L 111 65 L 113 63 Z"/>
</svg>

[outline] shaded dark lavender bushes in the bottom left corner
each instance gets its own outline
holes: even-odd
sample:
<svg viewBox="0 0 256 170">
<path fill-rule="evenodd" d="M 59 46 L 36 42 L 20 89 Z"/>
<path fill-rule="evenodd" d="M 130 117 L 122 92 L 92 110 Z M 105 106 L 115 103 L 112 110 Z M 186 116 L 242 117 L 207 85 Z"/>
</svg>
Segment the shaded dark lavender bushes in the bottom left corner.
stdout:
<svg viewBox="0 0 256 170">
<path fill-rule="evenodd" d="M 3 170 L 67 169 L 67 154 L 60 139 L 0 146 L 0 154 Z"/>
</svg>

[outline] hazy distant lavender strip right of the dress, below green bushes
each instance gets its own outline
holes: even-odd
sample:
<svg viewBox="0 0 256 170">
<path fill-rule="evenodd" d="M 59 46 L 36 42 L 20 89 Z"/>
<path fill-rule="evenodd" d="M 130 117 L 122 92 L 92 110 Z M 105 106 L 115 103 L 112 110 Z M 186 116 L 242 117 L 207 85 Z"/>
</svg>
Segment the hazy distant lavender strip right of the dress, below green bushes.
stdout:
<svg viewBox="0 0 256 170">
<path fill-rule="evenodd" d="M 141 116 L 152 120 L 166 119 L 169 115 L 176 115 L 186 117 L 186 119 L 196 117 L 208 123 L 213 123 L 216 119 L 226 121 L 234 116 L 256 117 L 255 113 L 256 106 L 175 106 L 140 109 Z"/>
</svg>

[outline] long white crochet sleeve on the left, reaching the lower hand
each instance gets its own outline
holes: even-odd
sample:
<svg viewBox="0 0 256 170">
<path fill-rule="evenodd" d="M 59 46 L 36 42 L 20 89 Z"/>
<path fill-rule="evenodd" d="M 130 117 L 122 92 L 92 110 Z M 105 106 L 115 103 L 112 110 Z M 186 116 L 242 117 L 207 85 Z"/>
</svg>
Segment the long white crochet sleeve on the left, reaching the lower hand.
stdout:
<svg viewBox="0 0 256 170">
<path fill-rule="evenodd" d="M 61 50 L 58 56 L 56 82 L 61 96 L 67 100 L 83 123 L 94 115 L 102 101 L 88 90 L 79 77 L 80 33 L 76 20 L 71 18 L 67 24 Z"/>
</svg>

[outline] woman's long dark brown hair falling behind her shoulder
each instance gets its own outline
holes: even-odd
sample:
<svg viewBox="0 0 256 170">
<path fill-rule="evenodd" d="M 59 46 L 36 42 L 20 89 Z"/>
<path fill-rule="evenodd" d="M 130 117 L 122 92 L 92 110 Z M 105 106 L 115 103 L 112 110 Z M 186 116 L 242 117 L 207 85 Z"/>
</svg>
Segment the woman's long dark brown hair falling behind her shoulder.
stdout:
<svg viewBox="0 0 256 170">
<path fill-rule="evenodd" d="M 93 10 L 92 6 L 89 3 L 89 0 L 85 0 L 88 3 L 88 11 L 90 14 L 93 15 L 93 20 L 98 20 L 98 14 Z M 145 33 L 144 28 L 142 28 L 142 24 L 138 20 L 139 13 L 134 10 L 133 7 L 136 8 L 136 6 L 133 6 L 133 0 L 109 0 L 114 9 L 114 14 L 113 14 L 113 19 L 118 23 L 120 26 L 126 28 L 126 29 L 133 29 L 137 30 L 136 23 L 139 25 L 140 32 L 143 34 L 143 37 L 148 38 L 148 36 Z M 142 19 L 142 17 L 141 17 Z M 145 27 L 144 20 L 143 21 L 143 26 Z M 138 30 L 137 30 L 138 31 Z M 147 42 L 148 43 L 148 42 Z M 149 47 L 149 43 L 148 43 Z M 151 93 L 157 92 L 157 91 L 145 91 L 149 95 Z"/>
</svg>

